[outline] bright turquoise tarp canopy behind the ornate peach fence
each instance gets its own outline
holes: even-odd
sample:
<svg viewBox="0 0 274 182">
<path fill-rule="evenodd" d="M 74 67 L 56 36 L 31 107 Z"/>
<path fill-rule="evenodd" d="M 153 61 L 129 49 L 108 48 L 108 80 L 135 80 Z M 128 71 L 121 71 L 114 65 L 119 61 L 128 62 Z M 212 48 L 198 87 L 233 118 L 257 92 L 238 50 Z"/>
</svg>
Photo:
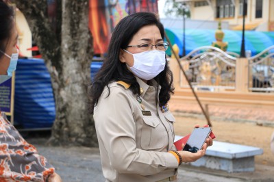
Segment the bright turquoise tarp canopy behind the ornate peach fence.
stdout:
<svg viewBox="0 0 274 182">
<path fill-rule="evenodd" d="M 182 55 L 183 29 L 165 29 L 172 44 L 179 47 L 179 55 Z M 186 29 L 186 53 L 202 46 L 210 46 L 216 41 L 214 29 Z M 242 31 L 223 29 L 225 38 L 223 42 L 228 42 L 227 51 L 240 54 L 242 43 Z M 250 50 L 251 55 L 256 55 L 264 49 L 274 45 L 274 31 L 245 31 L 245 50 Z M 171 55 L 171 50 L 167 53 Z"/>
</svg>

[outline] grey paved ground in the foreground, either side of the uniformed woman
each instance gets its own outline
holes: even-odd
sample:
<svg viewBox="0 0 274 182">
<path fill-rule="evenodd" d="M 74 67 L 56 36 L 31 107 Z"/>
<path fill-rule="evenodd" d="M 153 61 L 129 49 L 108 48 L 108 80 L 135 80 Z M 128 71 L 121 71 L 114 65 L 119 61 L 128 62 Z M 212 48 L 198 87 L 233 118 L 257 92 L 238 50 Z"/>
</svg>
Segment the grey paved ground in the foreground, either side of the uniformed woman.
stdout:
<svg viewBox="0 0 274 182">
<path fill-rule="evenodd" d="M 45 147 L 37 144 L 38 151 L 55 166 L 64 182 L 104 181 L 98 148 L 86 147 Z M 238 182 L 274 181 L 274 166 L 257 165 L 256 172 L 229 174 L 223 171 L 180 166 L 178 181 L 191 182 Z"/>
</svg>

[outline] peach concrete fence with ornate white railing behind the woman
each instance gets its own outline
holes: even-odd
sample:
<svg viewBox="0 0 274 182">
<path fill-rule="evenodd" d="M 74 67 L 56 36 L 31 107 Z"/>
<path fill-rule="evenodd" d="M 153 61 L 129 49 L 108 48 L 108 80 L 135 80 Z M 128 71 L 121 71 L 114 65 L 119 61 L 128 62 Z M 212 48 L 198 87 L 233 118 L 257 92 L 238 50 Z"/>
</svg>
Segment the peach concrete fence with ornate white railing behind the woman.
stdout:
<svg viewBox="0 0 274 182">
<path fill-rule="evenodd" d="M 273 47 L 274 48 L 274 47 Z M 206 49 L 211 49 L 206 47 Z M 215 49 L 215 48 L 214 48 Z M 271 49 L 272 50 L 272 49 Z M 201 51 L 202 52 L 202 51 Z M 215 53 L 212 54 L 212 53 Z M 201 57 L 201 55 L 204 55 Z M 269 54 L 271 55 L 271 54 Z M 221 58 L 220 57 L 226 57 Z M 254 57 L 250 57 L 254 58 Z M 203 104 L 231 104 L 231 105 L 253 105 L 253 106 L 266 106 L 274 108 L 274 92 L 251 92 L 253 83 L 253 75 L 251 74 L 251 68 L 253 64 L 250 64 L 250 58 L 238 58 L 225 55 L 223 51 L 209 51 L 209 53 L 199 53 L 192 56 L 186 55 L 180 60 L 180 64 L 187 73 L 190 70 L 190 66 L 197 64 L 198 66 L 203 65 L 203 62 L 221 62 L 225 66 L 229 66 L 230 70 L 234 69 L 234 76 L 230 79 L 230 83 L 225 83 L 220 80 L 220 75 L 216 75 L 216 81 L 211 82 L 211 84 L 201 84 L 191 82 L 191 78 L 188 77 L 192 83 L 193 88 L 197 91 L 200 101 Z M 206 59 L 203 60 L 203 59 Z M 219 60 L 218 60 L 219 59 Z M 192 62 L 192 65 L 190 63 Z M 193 63 L 194 62 L 194 63 Z M 258 62 L 256 62 L 258 63 Z M 260 62 L 259 62 L 260 63 Z M 274 61 L 271 64 L 274 64 Z M 208 64 L 213 65 L 213 64 Z M 182 70 L 179 69 L 177 60 L 172 56 L 169 59 L 169 66 L 173 72 L 175 94 L 172 96 L 172 99 L 180 99 L 184 101 L 193 101 L 196 102 L 195 96 L 193 96 L 186 77 L 182 74 Z M 199 71 L 199 70 L 198 70 Z M 222 71 L 222 70 L 221 70 Z M 187 75 L 187 74 L 186 74 Z M 209 76 L 208 76 L 209 77 Z M 211 77 L 211 76 L 210 76 Z M 273 76 L 274 77 L 274 76 Z M 218 80 L 219 79 L 219 80 Z M 273 88 L 274 91 L 274 88 Z"/>
</svg>

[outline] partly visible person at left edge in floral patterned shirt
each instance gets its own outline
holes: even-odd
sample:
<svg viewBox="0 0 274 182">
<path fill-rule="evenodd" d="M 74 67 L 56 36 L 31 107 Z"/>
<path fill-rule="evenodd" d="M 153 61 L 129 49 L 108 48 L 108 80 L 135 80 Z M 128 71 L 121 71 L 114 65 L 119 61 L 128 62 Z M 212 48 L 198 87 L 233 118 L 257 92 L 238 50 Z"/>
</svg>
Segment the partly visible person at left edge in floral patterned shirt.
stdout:
<svg viewBox="0 0 274 182">
<path fill-rule="evenodd" d="M 0 25 L 0 81 L 3 82 L 12 76 L 18 60 L 14 11 L 3 0 L 0 0 Z M 1 108 L 0 181 L 62 181 L 47 159 L 11 125 Z"/>
</svg>

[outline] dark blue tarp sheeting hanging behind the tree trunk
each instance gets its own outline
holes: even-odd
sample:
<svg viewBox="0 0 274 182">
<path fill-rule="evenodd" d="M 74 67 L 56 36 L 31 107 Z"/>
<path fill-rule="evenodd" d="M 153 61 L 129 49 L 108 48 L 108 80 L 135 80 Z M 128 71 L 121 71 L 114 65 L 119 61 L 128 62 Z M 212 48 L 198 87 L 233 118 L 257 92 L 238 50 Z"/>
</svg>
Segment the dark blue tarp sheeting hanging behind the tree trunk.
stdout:
<svg viewBox="0 0 274 182">
<path fill-rule="evenodd" d="M 102 62 L 92 62 L 91 77 Z M 55 120 L 51 79 L 42 59 L 19 59 L 15 76 L 14 123 L 25 129 L 49 128 Z"/>
</svg>

